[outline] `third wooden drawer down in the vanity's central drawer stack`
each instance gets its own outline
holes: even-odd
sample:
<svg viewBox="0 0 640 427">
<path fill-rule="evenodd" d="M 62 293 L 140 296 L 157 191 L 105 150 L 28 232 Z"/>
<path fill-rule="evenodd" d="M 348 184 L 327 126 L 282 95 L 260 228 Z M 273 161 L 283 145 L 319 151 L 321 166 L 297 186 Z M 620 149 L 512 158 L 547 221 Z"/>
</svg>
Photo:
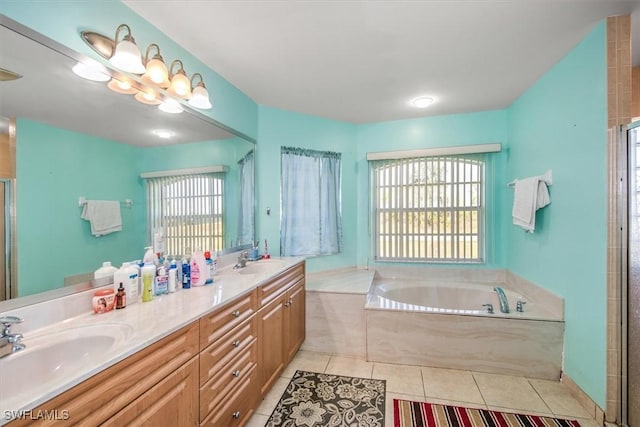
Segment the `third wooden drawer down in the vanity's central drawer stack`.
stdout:
<svg viewBox="0 0 640 427">
<path fill-rule="evenodd" d="M 257 365 L 257 361 L 258 345 L 254 341 L 200 389 L 200 420 L 205 419 L 224 398 L 228 398 L 238 384 L 244 382 Z M 255 381 L 257 384 L 257 380 Z"/>
</svg>

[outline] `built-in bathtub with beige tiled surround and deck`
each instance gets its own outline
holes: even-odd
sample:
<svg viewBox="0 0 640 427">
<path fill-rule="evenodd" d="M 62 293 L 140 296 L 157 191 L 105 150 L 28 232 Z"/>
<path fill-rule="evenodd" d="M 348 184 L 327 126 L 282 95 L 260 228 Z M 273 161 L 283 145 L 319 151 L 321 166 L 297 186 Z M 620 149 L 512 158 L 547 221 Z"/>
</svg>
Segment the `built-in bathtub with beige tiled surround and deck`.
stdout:
<svg viewBox="0 0 640 427">
<path fill-rule="evenodd" d="M 472 298 L 473 290 L 486 293 L 470 303 L 472 313 L 440 314 L 436 308 L 453 307 L 425 302 L 417 307 L 423 296 L 415 295 L 407 295 L 405 307 L 386 301 L 384 308 L 376 285 L 385 283 L 430 290 L 440 297 L 466 287 L 469 292 L 458 295 L 460 302 Z M 498 285 L 509 299 L 508 316 L 500 313 L 493 291 Z M 523 313 L 515 311 L 518 296 L 526 301 Z M 494 314 L 486 313 L 484 303 L 493 304 Z M 562 298 L 505 270 L 376 266 L 375 271 L 307 274 L 307 340 L 302 348 L 375 362 L 557 380 L 563 328 Z"/>
</svg>

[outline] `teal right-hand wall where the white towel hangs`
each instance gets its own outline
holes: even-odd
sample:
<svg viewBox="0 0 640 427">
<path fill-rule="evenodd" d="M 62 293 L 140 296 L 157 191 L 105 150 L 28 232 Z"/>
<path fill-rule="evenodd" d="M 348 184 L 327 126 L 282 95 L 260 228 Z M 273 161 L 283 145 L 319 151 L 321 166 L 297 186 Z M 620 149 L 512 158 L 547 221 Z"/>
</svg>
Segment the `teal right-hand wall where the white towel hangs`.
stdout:
<svg viewBox="0 0 640 427">
<path fill-rule="evenodd" d="M 565 299 L 565 372 L 606 392 L 606 49 L 600 23 L 508 109 L 507 179 L 553 170 L 534 234 L 509 226 L 507 267 Z M 513 196 L 505 204 L 507 210 Z"/>
</svg>

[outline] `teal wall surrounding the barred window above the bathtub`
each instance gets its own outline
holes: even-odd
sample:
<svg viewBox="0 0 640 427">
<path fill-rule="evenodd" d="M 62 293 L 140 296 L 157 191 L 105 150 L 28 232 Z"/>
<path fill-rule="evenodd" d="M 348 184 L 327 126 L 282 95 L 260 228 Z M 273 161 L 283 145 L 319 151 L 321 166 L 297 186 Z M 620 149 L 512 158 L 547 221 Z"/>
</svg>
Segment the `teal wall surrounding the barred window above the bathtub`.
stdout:
<svg viewBox="0 0 640 427">
<path fill-rule="evenodd" d="M 504 268 L 506 248 L 504 241 L 506 112 L 487 111 L 471 114 L 425 117 L 358 126 L 357 181 L 358 181 L 358 252 L 357 264 L 375 264 L 370 257 L 369 233 L 369 169 L 367 152 L 412 150 L 429 147 L 450 147 L 501 143 L 503 152 L 489 155 L 487 167 L 487 244 L 486 263 L 481 268 Z M 497 207 L 494 210 L 493 207 Z M 456 265 L 459 267 L 459 265 Z"/>
</svg>

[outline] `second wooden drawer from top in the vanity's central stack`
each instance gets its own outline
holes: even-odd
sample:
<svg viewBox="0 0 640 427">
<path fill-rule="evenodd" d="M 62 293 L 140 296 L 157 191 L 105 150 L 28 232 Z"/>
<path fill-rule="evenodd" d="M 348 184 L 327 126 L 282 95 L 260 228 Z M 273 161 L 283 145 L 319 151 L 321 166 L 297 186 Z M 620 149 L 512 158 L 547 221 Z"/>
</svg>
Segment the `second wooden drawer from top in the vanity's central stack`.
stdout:
<svg viewBox="0 0 640 427">
<path fill-rule="evenodd" d="M 200 386 L 256 341 L 257 320 L 244 321 L 200 353 Z"/>
</svg>

